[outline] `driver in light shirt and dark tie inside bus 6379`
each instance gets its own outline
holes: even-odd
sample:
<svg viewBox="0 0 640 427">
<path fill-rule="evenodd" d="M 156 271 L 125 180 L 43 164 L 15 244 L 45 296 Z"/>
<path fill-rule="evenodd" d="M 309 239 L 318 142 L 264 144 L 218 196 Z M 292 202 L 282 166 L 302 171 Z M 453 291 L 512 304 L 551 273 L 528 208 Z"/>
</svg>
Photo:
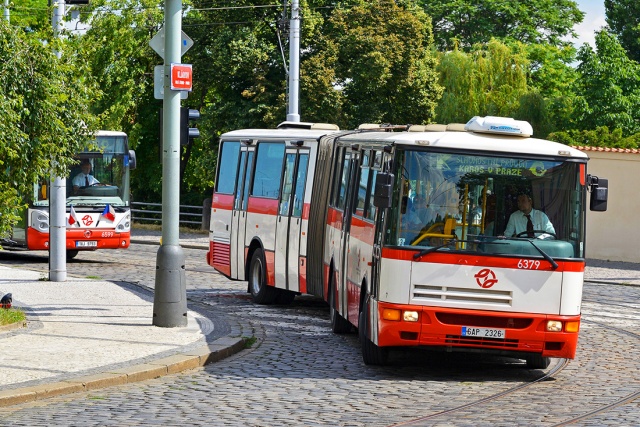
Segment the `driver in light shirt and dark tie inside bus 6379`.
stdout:
<svg viewBox="0 0 640 427">
<path fill-rule="evenodd" d="M 518 195 L 518 210 L 511 214 L 504 235 L 546 239 L 552 237 L 556 230 L 549 221 L 549 217 L 542 211 L 533 209 L 531 197 L 528 194 Z"/>
</svg>

